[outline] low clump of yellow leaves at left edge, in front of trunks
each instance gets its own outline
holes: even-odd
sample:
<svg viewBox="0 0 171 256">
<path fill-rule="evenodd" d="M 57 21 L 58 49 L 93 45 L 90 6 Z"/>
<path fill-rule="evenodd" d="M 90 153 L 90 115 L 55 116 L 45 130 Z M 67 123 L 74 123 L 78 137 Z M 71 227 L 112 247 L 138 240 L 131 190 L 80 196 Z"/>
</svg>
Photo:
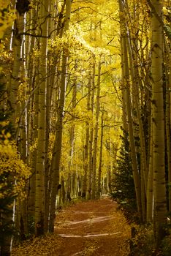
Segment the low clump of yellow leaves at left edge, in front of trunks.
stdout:
<svg viewBox="0 0 171 256">
<path fill-rule="evenodd" d="M 30 175 L 29 167 L 20 159 L 15 143 L 10 142 L 10 133 L 2 130 L 0 143 L 0 198 L 24 196 L 23 189 Z M 12 185 L 11 186 L 9 186 Z"/>
</svg>

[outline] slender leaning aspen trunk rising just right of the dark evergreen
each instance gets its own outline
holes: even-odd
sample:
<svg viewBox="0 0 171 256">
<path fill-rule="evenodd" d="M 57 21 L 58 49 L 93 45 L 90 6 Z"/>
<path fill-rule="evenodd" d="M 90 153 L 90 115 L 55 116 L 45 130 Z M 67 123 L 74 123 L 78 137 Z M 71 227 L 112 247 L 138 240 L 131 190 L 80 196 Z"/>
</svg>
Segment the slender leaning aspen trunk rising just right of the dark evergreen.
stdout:
<svg viewBox="0 0 171 256">
<path fill-rule="evenodd" d="M 139 5 L 139 3 L 137 3 Z M 140 6 L 138 6 L 140 8 Z M 136 7 L 134 6 L 134 10 Z M 129 15 L 130 16 L 130 15 Z M 138 34 L 139 31 L 139 23 L 138 23 L 138 14 L 137 11 L 134 13 L 134 20 L 137 20 L 134 24 L 134 28 L 132 31 L 129 29 L 129 37 L 126 38 L 126 44 L 129 52 L 129 66 L 130 66 L 130 75 L 132 78 L 132 98 L 133 98 L 133 106 L 134 110 L 136 111 L 136 122 L 139 127 L 138 135 L 140 136 L 140 181 L 141 181 L 141 198 L 142 198 L 142 221 L 145 222 L 146 219 L 146 209 L 145 209 L 145 197 L 147 192 L 148 186 L 148 166 L 147 166 L 147 157 L 146 157 L 146 148 L 145 148 L 145 134 L 142 124 L 142 118 L 140 113 L 140 75 L 138 70 L 138 59 L 137 59 L 137 48 L 138 42 L 137 37 L 135 36 Z M 133 22 L 131 18 L 129 18 L 131 23 Z M 132 116 L 134 118 L 134 116 Z M 134 130 L 134 127 L 133 127 Z M 134 134 L 134 137 L 136 135 Z"/>
</svg>

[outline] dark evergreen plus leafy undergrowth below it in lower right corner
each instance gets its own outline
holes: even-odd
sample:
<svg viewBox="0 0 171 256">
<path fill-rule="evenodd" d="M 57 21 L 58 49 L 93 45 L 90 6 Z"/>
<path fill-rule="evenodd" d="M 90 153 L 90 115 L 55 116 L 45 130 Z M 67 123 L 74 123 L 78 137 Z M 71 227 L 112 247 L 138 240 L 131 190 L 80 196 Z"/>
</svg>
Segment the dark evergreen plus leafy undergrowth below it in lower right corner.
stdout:
<svg viewBox="0 0 171 256">
<path fill-rule="evenodd" d="M 137 214 L 137 203 L 132 175 L 132 164 L 129 155 L 128 134 L 123 131 L 121 136 L 122 146 L 115 168 L 113 192 L 110 197 L 117 201 L 118 209 L 123 212 L 127 222 L 132 225 L 132 238 L 129 240 L 130 256 L 170 256 L 171 233 L 161 241 L 161 246 L 156 249 L 153 225 L 140 225 Z M 138 141 L 137 141 L 138 143 Z M 140 165 L 140 156 L 137 155 Z M 167 227 L 168 229 L 168 227 Z"/>
</svg>

